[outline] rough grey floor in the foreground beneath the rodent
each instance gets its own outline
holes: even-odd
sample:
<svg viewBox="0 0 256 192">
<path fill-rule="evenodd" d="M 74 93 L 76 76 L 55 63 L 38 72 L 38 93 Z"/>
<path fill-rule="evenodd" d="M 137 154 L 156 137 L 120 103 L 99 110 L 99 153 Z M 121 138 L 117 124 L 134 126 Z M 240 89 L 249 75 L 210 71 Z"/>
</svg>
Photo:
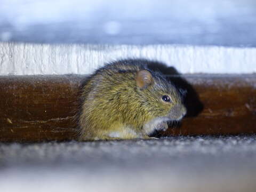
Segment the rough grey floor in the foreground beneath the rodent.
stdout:
<svg viewBox="0 0 256 192">
<path fill-rule="evenodd" d="M 0 191 L 255 191 L 256 137 L 1 143 Z"/>
</svg>

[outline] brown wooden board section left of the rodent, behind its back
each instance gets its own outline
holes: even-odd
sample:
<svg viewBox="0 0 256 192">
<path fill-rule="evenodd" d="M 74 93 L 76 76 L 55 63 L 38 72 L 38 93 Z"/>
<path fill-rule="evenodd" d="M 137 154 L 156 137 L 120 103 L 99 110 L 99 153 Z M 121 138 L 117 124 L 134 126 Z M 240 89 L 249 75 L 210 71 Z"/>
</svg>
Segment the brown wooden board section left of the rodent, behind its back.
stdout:
<svg viewBox="0 0 256 192">
<path fill-rule="evenodd" d="M 75 138 L 73 116 L 81 77 L 0 77 L 0 140 Z"/>
</svg>

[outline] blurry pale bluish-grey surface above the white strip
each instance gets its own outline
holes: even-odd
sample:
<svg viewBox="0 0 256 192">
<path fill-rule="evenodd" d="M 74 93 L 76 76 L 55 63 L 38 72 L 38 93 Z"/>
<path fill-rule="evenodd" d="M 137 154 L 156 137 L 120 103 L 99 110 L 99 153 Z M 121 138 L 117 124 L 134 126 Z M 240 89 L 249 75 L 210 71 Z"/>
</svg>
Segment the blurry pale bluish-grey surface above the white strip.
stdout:
<svg viewBox="0 0 256 192">
<path fill-rule="evenodd" d="M 253 0 L 2 0 L 0 41 L 256 46 Z"/>
</svg>

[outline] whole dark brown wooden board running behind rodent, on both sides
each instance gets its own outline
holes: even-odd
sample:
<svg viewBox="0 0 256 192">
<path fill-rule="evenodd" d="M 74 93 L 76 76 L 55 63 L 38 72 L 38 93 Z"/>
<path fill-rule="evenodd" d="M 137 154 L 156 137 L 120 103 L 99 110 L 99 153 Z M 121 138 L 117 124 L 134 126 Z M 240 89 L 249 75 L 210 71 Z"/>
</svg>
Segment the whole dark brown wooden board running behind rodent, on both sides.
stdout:
<svg viewBox="0 0 256 192">
<path fill-rule="evenodd" d="M 85 76 L 0 76 L 0 141 L 76 139 Z M 162 135 L 256 133 L 256 75 L 171 76 L 188 115 Z"/>
</svg>

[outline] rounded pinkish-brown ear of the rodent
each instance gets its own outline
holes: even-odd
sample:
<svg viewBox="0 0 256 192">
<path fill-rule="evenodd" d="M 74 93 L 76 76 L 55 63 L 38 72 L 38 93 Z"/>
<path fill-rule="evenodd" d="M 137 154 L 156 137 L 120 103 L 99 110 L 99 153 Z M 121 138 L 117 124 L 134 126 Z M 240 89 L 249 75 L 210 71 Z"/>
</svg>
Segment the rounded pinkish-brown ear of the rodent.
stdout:
<svg viewBox="0 0 256 192">
<path fill-rule="evenodd" d="M 136 75 L 136 83 L 140 89 L 146 89 L 153 82 L 153 77 L 148 70 L 140 70 Z"/>
</svg>

